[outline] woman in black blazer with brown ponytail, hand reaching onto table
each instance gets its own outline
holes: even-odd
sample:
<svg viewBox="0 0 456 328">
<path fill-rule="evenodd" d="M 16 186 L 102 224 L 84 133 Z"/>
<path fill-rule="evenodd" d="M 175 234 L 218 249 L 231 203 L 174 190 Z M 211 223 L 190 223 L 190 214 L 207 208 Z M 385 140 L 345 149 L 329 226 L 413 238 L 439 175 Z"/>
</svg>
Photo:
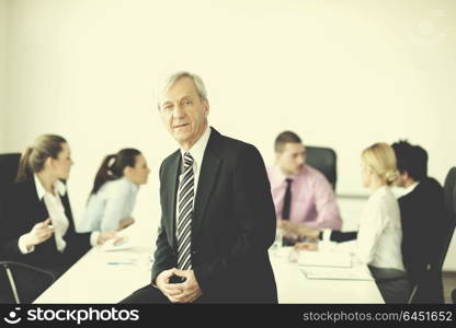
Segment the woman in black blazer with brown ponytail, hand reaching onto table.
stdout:
<svg viewBox="0 0 456 328">
<path fill-rule="evenodd" d="M 2 258 L 59 276 L 91 246 L 115 236 L 114 232 L 76 232 L 65 185 L 72 164 L 69 145 L 59 136 L 41 136 L 26 149 L 7 196 Z"/>
</svg>

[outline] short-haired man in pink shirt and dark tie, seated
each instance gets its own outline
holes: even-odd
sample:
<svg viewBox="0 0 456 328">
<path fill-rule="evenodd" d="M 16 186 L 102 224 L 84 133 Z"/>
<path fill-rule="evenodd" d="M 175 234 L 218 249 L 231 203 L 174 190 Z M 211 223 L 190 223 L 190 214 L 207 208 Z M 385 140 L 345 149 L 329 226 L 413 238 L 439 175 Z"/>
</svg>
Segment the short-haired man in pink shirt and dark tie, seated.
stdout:
<svg viewBox="0 0 456 328">
<path fill-rule="evenodd" d="M 334 191 L 323 174 L 306 165 L 306 148 L 296 133 L 285 131 L 277 136 L 275 160 L 267 176 L 277 226 L 305 224 L 341 230 Z"/>
</svg>

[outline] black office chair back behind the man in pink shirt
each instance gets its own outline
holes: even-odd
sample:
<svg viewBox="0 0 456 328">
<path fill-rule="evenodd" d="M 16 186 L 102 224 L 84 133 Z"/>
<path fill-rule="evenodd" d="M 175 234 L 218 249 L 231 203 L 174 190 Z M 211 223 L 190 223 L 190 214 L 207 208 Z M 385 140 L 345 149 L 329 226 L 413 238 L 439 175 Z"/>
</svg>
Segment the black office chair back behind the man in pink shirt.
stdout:
<svg viewBox="0 0 456 328">
<path fill-rule="evenodd" d="M 306 163 L 320 171 L 335 190 L 337 175 L 335 152 L 330 148 L 306 147 Z"/>
</svg>

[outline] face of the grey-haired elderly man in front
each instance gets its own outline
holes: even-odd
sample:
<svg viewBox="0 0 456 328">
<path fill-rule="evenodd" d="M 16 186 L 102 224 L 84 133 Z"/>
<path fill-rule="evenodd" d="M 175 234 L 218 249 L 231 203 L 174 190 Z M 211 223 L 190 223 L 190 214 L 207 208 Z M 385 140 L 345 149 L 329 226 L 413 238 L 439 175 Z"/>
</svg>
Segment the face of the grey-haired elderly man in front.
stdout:
<svg viewBox="0 0 456 328">
<path fill-rule="evenodd" d="M 175 81 L 162 95 L 160 113 L 171 136 L 189 150 L 207 127 L 209 103 L 200 98 L 193 80 L 185 77 Z"/>
</svg>

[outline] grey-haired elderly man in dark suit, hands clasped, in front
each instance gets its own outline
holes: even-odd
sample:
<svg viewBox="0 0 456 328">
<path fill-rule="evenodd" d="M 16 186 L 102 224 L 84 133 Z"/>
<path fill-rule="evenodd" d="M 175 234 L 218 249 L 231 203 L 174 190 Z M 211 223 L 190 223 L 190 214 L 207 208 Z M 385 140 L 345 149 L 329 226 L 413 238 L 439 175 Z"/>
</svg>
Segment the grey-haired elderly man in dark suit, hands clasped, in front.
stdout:
<svg viewBox="0 0 456 328">
<path fill-rule="evenodd" d="M 259 151 L 208 126 L 195 74 L 169 78 L 159 110 L 181 149 L 160 167 L 151 284 L 123 303 L 276 303 L 267 255 L 276 219 Z"/>
</svg>

